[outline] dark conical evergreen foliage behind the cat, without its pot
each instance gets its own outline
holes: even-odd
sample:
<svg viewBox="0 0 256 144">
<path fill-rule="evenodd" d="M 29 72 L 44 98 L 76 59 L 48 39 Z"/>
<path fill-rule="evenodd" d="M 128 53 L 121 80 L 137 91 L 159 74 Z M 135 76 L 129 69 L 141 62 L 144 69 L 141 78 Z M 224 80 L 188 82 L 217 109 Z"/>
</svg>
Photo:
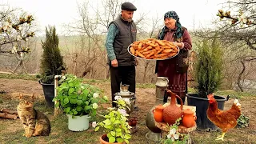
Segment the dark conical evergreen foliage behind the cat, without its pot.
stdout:
<svg viewBox="0 0 256 144">
<path fill-rule="evenodd" d="M 46 41 L 42 42 L 42 60 L 41 60 L 41 82 L 54 83 L 54 76 L 62 74 L 65 70 L 63 58 L 58 48 L 58 35 L 54 26 L 46 27 Z"/>
</svg>

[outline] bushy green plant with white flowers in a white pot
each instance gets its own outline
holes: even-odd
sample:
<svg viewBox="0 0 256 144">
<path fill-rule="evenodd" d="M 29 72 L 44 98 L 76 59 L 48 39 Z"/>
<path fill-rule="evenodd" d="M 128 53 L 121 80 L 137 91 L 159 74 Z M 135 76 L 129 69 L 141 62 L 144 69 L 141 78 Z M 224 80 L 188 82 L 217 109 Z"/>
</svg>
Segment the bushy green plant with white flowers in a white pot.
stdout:
<svg viewBox="0 0 256 144">
<path fill-rule="evenodd" d="M 82 131 L 89 128 L 90 116 L 96 115 L 96 110 L 101 102 L 106 102 L 101 91 L 94 86 L 82 83 L 72 74 L 62 76 L 62 85 L 57 87 L 57 101 L 55 106 L 60 107 L 69 118 L 68 127 L 72 131 Z"/>
</svg>

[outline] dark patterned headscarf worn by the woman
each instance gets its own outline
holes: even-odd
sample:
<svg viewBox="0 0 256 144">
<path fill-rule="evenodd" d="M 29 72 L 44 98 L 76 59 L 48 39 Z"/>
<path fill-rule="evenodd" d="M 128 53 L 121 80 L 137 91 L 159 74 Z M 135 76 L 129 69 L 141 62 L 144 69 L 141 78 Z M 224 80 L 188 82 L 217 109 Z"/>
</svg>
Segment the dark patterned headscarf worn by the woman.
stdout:
<svg viewBox="0 0 256 144">
<path fill-rule="evenodd" d="M 165 15 L 164 15 L 164 19 L 166 18 L 174 18 L 176 20 L 176 26 L 177 26 L 177 30 L 175 31 L 175 38 L 182 38 L 183 36 L 183 31 L 182 31 L 182 24 L 181 22 L 179 22 L 179 18 L 178 18 L 178 14 L 175 11 L 168 11 Z M 166 26 L 164 26 L 160 32 L 160 34 L 158 35 L 159 39 L 163 39 L 166 33 L 166 30 L 168 30 L 168 28 Z"/>
</svg>

